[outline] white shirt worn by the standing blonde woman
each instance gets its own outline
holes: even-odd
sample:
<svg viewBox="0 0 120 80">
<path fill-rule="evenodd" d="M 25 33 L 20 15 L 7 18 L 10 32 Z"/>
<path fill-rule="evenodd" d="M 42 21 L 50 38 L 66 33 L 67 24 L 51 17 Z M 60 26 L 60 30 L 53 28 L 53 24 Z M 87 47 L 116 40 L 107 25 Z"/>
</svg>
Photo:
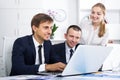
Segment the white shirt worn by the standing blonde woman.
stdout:
<svg viewBox="0 0 120 80">
<path fill-rule="evenodd" d="M 86 45 L 106 45 L 108 42 L 108 28 L 104 36 L 98 37 L 99 26 L 94 30 L 91 21 L 84 21 L 80 25 L 82 29 L 82 37 L 80 43 Z"/>
</svg>

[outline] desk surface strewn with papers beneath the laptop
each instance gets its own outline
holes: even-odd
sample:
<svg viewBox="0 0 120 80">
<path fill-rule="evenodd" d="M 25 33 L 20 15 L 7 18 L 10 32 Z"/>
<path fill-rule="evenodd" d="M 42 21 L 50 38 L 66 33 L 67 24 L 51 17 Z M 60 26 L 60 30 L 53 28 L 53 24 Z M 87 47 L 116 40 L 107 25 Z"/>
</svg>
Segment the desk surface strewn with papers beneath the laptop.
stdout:
<svg viewBox="0 0 120 80">
<path fill-rule="evenodd" d="M 37 79 L 37 80 L 120 80 L 120 72 L 101 72 L 96 74 L 69 76 L 69 77 L 55 77 L 55 76 L 40 76 L 40 75 L 18 75 L 0 77 L 0 80 L 11 79 Z"/>
</svg>

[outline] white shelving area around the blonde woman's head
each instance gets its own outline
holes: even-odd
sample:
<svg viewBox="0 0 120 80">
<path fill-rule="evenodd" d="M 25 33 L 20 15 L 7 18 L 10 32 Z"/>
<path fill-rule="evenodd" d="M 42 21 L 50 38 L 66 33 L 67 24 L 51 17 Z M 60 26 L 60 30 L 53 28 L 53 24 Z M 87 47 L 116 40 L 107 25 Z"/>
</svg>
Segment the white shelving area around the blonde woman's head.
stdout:
<svg viewBox="0 0 120 80">
<path fill-rule="evenodd" d="M 91 8 L 94 4 L 100 2 L 106 7 L 105 19 L 109 29 L 109 40 L 114 43 L 120 43 L 120 5 L 119 0 L 78 0 L 78 23 L 85 19 L 91 12 Z"/>
</svg>

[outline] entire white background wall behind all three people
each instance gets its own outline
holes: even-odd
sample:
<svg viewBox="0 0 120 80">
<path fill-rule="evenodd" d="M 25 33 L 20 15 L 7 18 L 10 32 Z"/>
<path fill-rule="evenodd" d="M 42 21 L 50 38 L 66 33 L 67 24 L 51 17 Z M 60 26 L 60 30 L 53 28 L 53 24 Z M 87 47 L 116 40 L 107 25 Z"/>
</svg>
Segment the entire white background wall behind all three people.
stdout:
<svg viewBox="0 0 120 80">
<path fill-rule="evenodd" d="M 3 55 L 3 37 L 31 34 L 30 22 L 35 14 L 46 13 L 48 10 L 64 10 L 66 19 L 61 22 L 55 21 L 59 28 L 54 39 L 62 40 L 67 27 L 71 24 L 79 24 L 89 13 L 93 3 L 100 1 L 107 5 L 108 21 L 112 24 L 120 24 L 118 0 L 112 2 L 109 0 L 0 0 L 0 62 Z"/>
</svg>

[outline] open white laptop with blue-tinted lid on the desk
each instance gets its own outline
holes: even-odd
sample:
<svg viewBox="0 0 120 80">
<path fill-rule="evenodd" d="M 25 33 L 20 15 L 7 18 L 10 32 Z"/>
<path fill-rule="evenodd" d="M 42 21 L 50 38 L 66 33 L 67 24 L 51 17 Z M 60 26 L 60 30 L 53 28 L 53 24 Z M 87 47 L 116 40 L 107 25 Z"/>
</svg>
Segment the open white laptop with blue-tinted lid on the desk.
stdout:
<svg viewBox="0 0 120 80">
<path fill-rule="evenodd" d="M 64 71 L 55 75 L 71 76 L 97 72 L 111 51 L 112 47 L 79 45 Z"/>
</svg>

